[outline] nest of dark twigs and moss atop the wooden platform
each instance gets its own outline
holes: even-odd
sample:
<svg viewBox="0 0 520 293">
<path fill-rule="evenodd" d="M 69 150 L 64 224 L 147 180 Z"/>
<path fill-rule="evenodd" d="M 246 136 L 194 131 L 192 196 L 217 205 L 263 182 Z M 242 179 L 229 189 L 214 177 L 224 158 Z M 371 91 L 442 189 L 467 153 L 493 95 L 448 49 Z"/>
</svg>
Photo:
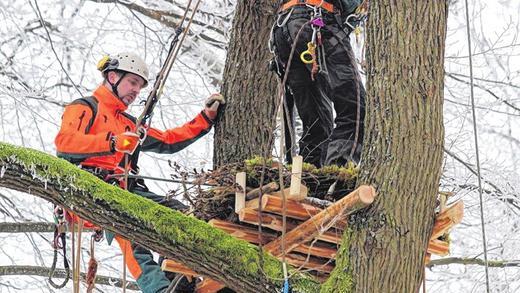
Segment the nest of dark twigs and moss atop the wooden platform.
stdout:
<svg viewBox="0 0 520 293">
<path fill-rule="evenodd" d="M 197 218 L 209 221 L 222 219 L 235 222 L 234 213 L 235 192 L 239 186 L 235 185 L 235 176 L 238 172 L 247 174 L 247 190 L 249 192 L 270 182 L 280 185 L 280 174 L 283 175 L 283 187 L 290 184 L 291 165 L 280 166 L 272 159 L 253 158 L 242 163 L 221 166 L 215 170 L 186 171 L 176 163 L 170 162 L 174 173 L 173 179 L 183 180 L 189 184 L 182 184 L 178 190 L 170 191 L 170 196 L 179 196 L 189 202 L 190 213 Z M 316 168 L 304 163 L 302 168 L 302 183 L 308 188 L 308 196 L 328 201 L 336 201 L 354 190 L 358 175 L 358 168 L 325 166 Z M 331 185 L 336 182 L 334 191 L 330 193 Z"/>
</svg>

